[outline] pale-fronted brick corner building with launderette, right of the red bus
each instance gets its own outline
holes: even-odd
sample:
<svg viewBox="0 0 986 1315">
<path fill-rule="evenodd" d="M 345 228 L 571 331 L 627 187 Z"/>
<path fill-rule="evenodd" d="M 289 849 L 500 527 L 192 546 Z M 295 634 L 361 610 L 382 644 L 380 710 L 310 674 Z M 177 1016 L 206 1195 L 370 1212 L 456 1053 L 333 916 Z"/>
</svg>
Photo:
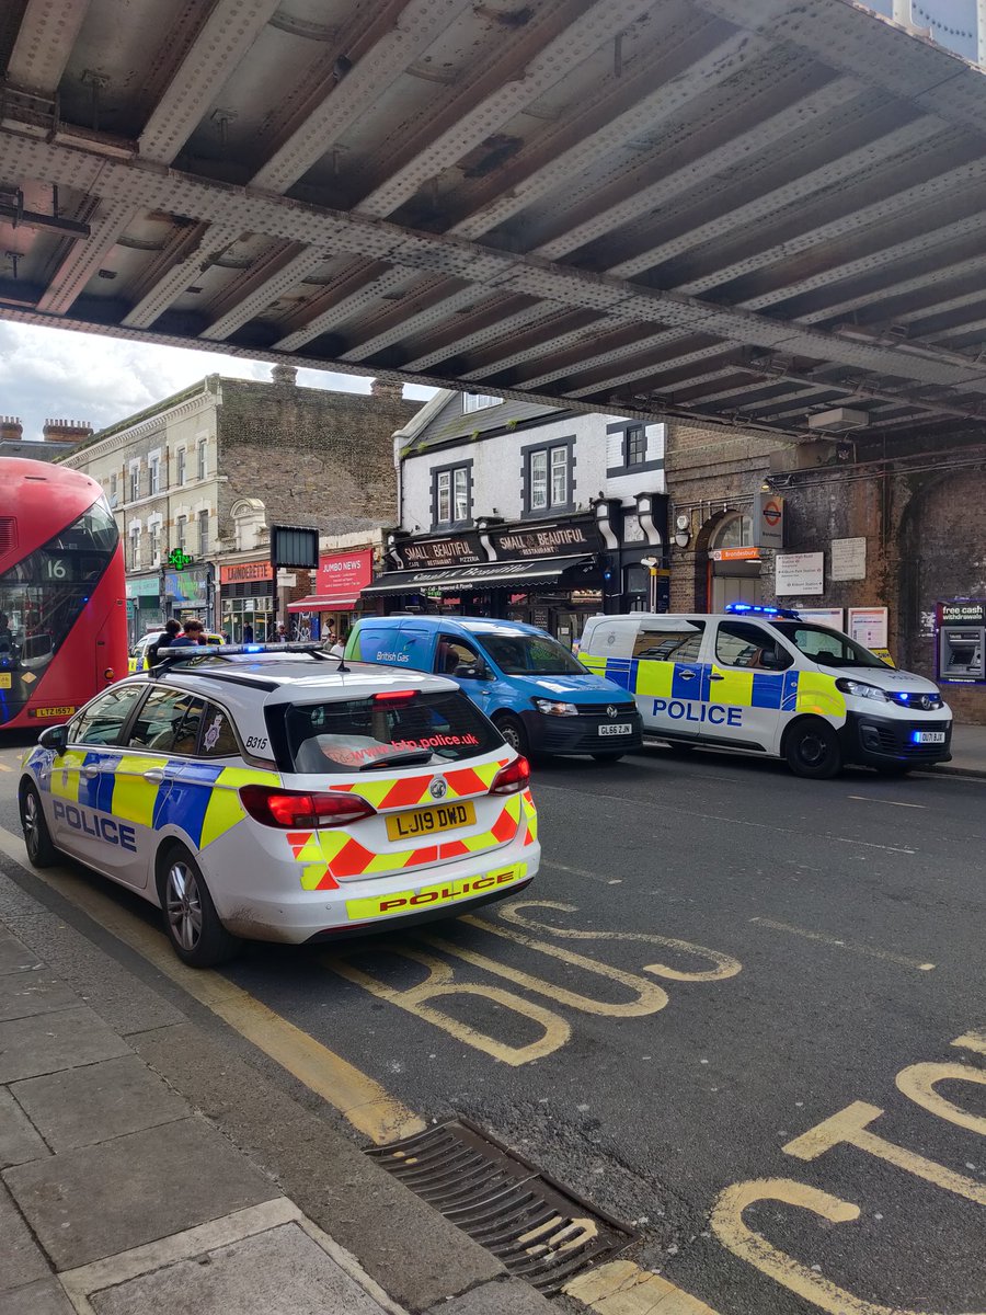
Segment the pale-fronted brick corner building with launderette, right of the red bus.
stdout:
<svg viewBox="0 0 986 1315">
<path fill-rule="evenodd" d="M 133 638 L 189 614 L 214 627 L 235 618 L 239 629 L 248 614 L 255 638 L 267 638 L 312 586 L 306 572 L 275 580 L 263 569 L 271 523 L 326 535 L 393 523 L 390 435 L 417 404 L 401 400 L 400 385 L 330 392 L 297 387 L 296 373 L 277 366 L 270 383 L 209 375 L 66 459 L 103 484 L 117 518 Z M 225 588 L 230 565 L 239 569 Z"/>
</svg>

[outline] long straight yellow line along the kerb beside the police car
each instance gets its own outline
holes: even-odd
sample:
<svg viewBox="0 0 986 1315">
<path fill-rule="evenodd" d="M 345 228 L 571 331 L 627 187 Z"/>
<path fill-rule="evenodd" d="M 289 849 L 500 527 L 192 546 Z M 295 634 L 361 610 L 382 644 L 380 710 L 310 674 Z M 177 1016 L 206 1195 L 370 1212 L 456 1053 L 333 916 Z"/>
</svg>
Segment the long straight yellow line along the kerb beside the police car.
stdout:
<svg viewBox="0 0 986 1315">
<path fill-rule="evenodd" d="M 24 840 L 4 827 L 0 827 L 0 852 L 21 867 L 26 863 Z M 149 927 L 143 919 L 122 909 L 110 896 L 89 885 L 70 868 L 46 868 L 43 872 L 33 872 L 33 876 L 135 949 L 200 1005 L 205 1005 L 217 1018 L 339 1110 L 377 1145 L 413 1136 L 427 1127 L 423 1119 L 405 1109 L 373 1078 L 220 973 L 187 968 L 176 957 L 163 932 Z"/>
</svg>

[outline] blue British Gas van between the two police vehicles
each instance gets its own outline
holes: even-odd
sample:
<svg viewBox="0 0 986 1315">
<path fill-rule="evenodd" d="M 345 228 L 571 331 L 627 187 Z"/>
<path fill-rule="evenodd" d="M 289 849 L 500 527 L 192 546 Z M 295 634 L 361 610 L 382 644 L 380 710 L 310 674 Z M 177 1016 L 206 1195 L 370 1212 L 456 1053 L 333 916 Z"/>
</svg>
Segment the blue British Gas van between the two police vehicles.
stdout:
<svg viewBox="0 0 986 1315">
<path fill-rule="evenodd" d="M 615 760 L 642 746 L 634 696 L 590 675 L 556 639 L 485 617 L 365 617 L 347 661 L 448 676 L 519 753 Z"/>
</svg>

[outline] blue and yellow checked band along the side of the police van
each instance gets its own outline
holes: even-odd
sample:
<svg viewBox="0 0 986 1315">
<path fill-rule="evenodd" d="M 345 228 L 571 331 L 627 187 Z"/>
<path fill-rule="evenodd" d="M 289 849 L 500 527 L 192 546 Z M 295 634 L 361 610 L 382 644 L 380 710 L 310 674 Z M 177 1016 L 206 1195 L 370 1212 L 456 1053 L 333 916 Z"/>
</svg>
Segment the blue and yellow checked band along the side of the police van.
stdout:
<svg viewBox="0 0 986 1315">
<path fill-rule="evenodd" d="M 845 718 L 845 697 L 836 688 L 836 677 L 823 672 L 743 671 L 718 663 L 653 661 L 594 654 L 580 654 L 578 660 L 594 676 L 605 676 L 638 697 Z"/>
</svg>

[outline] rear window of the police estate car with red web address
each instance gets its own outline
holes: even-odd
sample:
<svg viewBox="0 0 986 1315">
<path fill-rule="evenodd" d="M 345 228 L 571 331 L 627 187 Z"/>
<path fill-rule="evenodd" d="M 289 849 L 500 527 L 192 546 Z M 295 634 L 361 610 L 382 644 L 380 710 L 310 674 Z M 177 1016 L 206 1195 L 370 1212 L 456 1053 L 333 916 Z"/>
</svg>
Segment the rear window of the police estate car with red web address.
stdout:
<svg viewBox="0 0 986 1315">
<path fill-rule="evenodd" d="M 459 690 L 275 704 L 267 718 L 279 764 L 288 772 L 372 773 L 458 763 L 504 743 Z"/>
</svg>

